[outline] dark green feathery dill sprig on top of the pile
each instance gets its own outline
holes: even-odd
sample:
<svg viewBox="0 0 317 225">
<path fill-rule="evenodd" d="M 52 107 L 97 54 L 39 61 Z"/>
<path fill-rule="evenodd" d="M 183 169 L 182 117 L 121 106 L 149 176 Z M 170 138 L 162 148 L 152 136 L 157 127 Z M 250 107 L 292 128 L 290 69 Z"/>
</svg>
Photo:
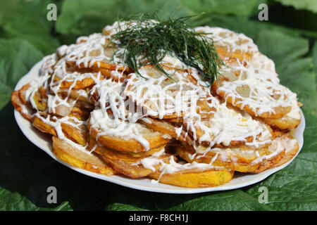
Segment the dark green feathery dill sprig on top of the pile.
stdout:
<svg viewBox="0 0 317 225">
<path fill-rule="evenodd" d="M 160 65 L 166 54 L 172 53 L 186 65 L 196 68 L 202 80 L 213 84 L 218 79 L 218 63 L 223 65 L 223 62 L 213 40 L 206 37 L 206 33 L 196 32 L 186 25 L 192 17 L 160 20 L 156 14 L 134 15 L 123 24 L 119 23 L 111 43 L 125 49 L 123 62 L 138 75 L 141 75 L 138 68 L 151 64 L 172 79 Z"/>
</svg>

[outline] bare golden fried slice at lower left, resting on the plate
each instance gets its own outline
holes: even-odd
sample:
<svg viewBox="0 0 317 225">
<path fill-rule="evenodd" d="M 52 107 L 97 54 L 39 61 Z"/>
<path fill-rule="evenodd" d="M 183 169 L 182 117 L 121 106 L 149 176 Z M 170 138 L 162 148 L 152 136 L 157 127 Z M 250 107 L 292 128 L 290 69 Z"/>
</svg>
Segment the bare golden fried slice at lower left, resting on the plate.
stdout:
<svg viewBox="0 0 317 225">
<path fill-rule="evenodd" d="M 53 153 L 58 159 L 66 162 L 68 165 L 106 176 L 116 174 L 116 172 L 108 166 L 106 162 L 100 160 L 97 155 L 78 150 L 66 141 L 58 139 L 55 136 L 53 136 Z"/>
</svg>

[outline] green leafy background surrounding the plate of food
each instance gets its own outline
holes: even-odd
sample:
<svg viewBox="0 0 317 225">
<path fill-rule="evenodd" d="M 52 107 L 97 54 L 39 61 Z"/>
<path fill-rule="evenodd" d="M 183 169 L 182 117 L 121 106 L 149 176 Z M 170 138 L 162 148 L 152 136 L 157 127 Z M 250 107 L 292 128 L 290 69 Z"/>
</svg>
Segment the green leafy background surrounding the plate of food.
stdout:
<svg viewBox="0 0 317 225">
<path fill-rule="evenodd" d="M 46 20 L 49 3 L 57 6 L 57 21 Z M 268 4 L 268 21 L 257 19 L 261 3 Z M 0 6 L 0 210 L 317 210 L 316 0 L 1 0 Z M 189 23 L 243 32 L 275 61 L 282 84 L 304 103 L 304 148 L 291 165 L 238 190 L 149 193 L 74 172 L 27 141 L 9 103 L 18 79 L 61 44 L 100 32 L 118 16 L 156 10 L 162 18 L 204 11 Z M 46 203 L 48 186 L 56 186 L 57 204 Z M 260 186 L 268 187 L 267 204 L 257 200 Z"/>
</svg>

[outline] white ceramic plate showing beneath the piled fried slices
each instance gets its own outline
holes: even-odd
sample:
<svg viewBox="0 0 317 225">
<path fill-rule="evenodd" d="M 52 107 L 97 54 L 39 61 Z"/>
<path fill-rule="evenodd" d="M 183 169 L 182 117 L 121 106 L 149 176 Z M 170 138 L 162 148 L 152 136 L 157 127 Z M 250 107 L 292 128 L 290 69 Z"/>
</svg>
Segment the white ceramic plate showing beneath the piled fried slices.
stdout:
<svg viewBox="0 0 317 225">
<path fill-rule="evenodd" d="M 20 79 L 18 84 L 15 86 L 15 90 L 20 89 L 24 84 L 27 84 L 32 79 L 35 79 L 39 75 L 39 68 L 41 65 L 41 61 L 37 63 L 30 72 L 27 73 L 24 77 Z M 305 129 L 305 118 L 304 114 L 302 113 L 302 122 L 299 124 L 299 127 L 294 132 L 294 136 L 296 137 L 298 143 L 299 143 L 299 151 L 302 149 L 303 143 L 304 143 L 304 129 Z M 125 178 L 123 176 L 104 176 L 101 174 L 96 174 L 94 172 L 89 172 L 84 169 L 78 169 L 77 167 L 73 167 L 71 165 L 66 164 L 65 162 L 59 160 L 56 158 L 54 153 L 51 151 L 51 139 L 49 139 L 47 136 L 44 136 L 41 132 L 37 131 L 35 127 L 32 127 L 32 124 L 25 120 L 18 111 L 14 111 L 15 120 L 18 123 L 18 126 L 20 127 L 23 134 L 29 139 L 32 143 L 35 144 L 35 146 L 41 148 L 51 156 L 51 158 L 54 158 L 54 160 L 61 162 L 61 164 L 66 165 L 66 167 L 70 167 L 71 169 L 74 169 L 77 172 L 80 172 L 82 174 L 86 174 L 87 176 L 93 176 L 98 179 L 102 179 L 104 181 L 109 181 L 114 184 L 119 184 L 122 186 L 126 186 L 129 188 L 135 188 L 143 191 L 153 191 L 153 192 L 161 192 L 161 193 L 201 193 L 201 192 L 208 192 L 208 191 L 223 191 L 223 190 L 230 190 L 235 188 L 242 188 L 244 186 L 248 186 L 251 184 L 255 184 L 259 181 L 262 181 L 263 179 L 266 179 L 266 177 L 270 176 L 271 174 L 277 172 L 278 170 L 286 167 L 287 165 L 294 160 L 290 160 L 289 162 L 285 163 L 284 165 L 281 165 L 280 167 L 275 167 L 272 169 L 266 169 L 265 171 L 259 173 L 259 174 L 241 174 L 237 173 L 235 174 L 234 178 L 229 181 L 227 184 L 223 184 L 221 186 L 211 187 L 211 188 L 182 188 L 178 186 L 171 186 L 168 184 L 160 184 L 152 182 L 150 179 L 129 179 Z M 298 153 L 299 153 L 298 151 Z M 297 154 L 298 154 L 297 153 Z"/>
</svg>

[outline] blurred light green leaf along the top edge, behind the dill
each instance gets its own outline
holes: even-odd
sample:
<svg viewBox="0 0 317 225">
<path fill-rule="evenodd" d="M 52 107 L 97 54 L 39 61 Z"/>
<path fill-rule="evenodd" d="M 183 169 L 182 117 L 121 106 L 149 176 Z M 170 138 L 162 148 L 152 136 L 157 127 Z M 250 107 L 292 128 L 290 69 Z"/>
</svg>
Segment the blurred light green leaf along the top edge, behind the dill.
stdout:
<svg viewBox="0 0 317 225">
<path fill-rule="evenodd" d="M 159 10 L 159 16 L 179 17 L 197 13 L 221 13 L 230 15 L 249 15 L 259 3 L 258 0 L 66 0 L 63 2 L 61 15 L 56 23 L 56 30 L 62 34 L 91 34 L 100 32 L 101 27 L 111 24 L 118 16 L 125 17 L 132 13 L 153 13 Z"/>
</svg>

